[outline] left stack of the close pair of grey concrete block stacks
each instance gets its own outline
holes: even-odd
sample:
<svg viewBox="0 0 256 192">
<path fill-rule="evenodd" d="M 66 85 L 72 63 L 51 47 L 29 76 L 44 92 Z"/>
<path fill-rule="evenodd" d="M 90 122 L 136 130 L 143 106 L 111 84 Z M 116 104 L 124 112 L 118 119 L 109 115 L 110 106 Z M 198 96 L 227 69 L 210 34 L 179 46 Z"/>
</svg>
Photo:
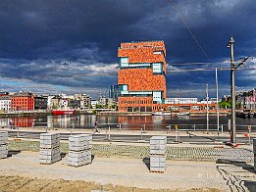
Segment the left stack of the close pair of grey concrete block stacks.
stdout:
<svg viewBox="0 0 256 192">
<path fill-rule="evenodd" d="M 60 133 L 40 134 L 40 164 L 53 164 L 61 160 Z"/>
</svg>

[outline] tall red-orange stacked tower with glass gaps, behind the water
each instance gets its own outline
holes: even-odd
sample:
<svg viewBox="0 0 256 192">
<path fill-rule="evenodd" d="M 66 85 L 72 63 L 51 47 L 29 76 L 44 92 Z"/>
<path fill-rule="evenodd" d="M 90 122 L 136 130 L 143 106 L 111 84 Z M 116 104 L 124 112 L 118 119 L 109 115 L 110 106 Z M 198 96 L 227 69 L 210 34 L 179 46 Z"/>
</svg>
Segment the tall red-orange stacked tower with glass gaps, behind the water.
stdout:
<svg viewBox="0 0 256 192">
<path fill-rule="evenodd" d="M 164 41 L 121 43 L 118 84 L 120 112 L 154 112 L 165 108 Z"/>
</svg>

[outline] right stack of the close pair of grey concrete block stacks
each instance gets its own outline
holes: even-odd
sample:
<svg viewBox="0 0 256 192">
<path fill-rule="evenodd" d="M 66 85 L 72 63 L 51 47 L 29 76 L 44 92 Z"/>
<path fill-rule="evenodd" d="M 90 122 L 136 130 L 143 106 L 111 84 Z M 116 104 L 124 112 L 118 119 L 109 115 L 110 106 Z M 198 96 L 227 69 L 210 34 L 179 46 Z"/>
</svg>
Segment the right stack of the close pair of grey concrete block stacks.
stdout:
<svg viewBox="0 0 256 192">
<path fill-rule="evenodd" d="M 68 165 L 79 167 L 91 164 L 91 134 L 77 134 L 69 137 Z"/>
</svg>

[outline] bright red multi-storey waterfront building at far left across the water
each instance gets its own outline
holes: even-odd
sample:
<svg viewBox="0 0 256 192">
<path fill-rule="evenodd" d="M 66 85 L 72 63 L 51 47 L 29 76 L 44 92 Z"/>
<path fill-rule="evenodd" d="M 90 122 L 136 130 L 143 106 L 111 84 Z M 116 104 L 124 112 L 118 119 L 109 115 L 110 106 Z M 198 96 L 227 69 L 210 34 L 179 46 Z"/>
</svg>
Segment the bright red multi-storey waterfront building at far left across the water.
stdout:
<svg viewBox="0 0 256 192">
<path fill-rule="evenodd" d="M 11 110 L 13 111 L 33 111 L 34 96 L 32 93 L 20 91 L 11 97 Z"/>
</svg>

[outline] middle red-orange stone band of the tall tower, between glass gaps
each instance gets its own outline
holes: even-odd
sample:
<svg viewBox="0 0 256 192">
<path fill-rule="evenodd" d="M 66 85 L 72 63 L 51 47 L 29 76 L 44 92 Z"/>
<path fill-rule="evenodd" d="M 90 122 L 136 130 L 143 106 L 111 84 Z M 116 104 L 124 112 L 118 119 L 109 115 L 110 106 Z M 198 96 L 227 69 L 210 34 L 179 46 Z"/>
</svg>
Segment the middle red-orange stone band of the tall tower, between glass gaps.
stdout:
<svg viewBox="0 0 256 192">
<path fill-rule="evenodd" d="M 128 91 L 163 90 L 166 98 L 166 78 L 163 74 L 153 74 L 151 69 L 124 69 L 118 72 L 118 83 L 128 84 Z"/>
</svg>

